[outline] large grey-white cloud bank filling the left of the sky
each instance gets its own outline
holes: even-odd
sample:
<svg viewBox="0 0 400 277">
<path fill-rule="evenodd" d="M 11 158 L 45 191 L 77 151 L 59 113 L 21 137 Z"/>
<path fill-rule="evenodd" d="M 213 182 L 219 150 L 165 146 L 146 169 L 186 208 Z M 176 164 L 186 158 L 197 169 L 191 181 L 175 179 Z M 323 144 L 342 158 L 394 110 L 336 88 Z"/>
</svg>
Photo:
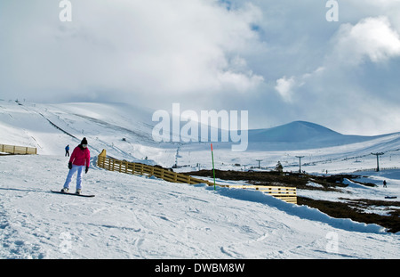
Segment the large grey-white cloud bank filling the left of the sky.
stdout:
<svg viewBox="0 0 400 277">
<path fill-rule="evenodd" d="M 35 5 L 29 1 L 24 8 Z M 12 64 L 0 77 L 4 91 L 30 91 L 32 98 L 47 91 L 44 98 L 52 99 L 112 92 L 163 102 L 167 95 L 244 92 L 262 81 L 242 57 L 258 43 L 255 5 L 228 11 L 208 0 L 85 0 L 73 3 L 67 23 L 60 22 L 54 1 L 40 7 L 20 18 L 20 7 L 10 5 L 13 18 L 0 19 L 1 29 L 18 25 L 0 31 L 0 41 L 9 45 L 0 50 Z"/>
</svg>

